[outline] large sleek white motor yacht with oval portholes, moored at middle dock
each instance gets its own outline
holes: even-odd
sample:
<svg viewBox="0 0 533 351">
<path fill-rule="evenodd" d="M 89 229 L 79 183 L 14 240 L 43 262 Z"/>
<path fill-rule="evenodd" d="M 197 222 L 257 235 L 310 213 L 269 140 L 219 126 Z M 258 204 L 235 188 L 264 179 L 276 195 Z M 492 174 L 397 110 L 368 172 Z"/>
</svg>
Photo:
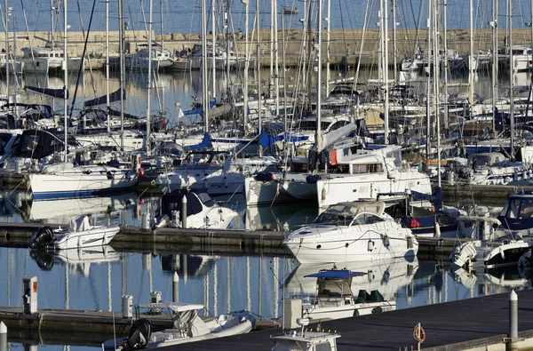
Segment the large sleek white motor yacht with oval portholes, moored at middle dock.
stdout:
<svg viewBox="0 0 533 351">
<path fill-rule="evenodd" d="M 415 235 L 384 210 L 381 201 L 337 203 L 282 243 L 302 264 L 416 256 Z"/>
</svg>

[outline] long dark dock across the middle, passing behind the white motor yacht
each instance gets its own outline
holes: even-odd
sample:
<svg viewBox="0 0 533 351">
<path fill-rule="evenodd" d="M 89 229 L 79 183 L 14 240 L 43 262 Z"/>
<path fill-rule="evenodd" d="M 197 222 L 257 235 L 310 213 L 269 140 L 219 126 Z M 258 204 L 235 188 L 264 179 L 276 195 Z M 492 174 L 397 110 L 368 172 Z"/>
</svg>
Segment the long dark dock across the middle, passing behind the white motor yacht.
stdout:
<svg viewBox="0 0 533 351">
<path fill-rule="evenodd" d="M 42 223 L 0 223 L 0 245 L 28 247 L 29 237 Z M 60 224 L 46 224 L 60 227 Z M 187 253 L 290 256 L 282 246 L 287 233 L 274 230 L 182 229 L 156 230 L 121 227 L 111 246 L 120 251 L 186 251 Z M 418 237 L 418 259 L 445 259 L 459 243 L 469 239 Z"/>
</svg>

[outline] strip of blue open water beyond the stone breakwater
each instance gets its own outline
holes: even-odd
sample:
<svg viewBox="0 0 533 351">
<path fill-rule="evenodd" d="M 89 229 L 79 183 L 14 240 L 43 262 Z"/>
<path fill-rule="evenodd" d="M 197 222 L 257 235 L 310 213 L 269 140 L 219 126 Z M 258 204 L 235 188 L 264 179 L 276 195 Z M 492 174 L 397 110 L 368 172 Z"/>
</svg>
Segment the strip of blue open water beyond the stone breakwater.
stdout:
<svg viewBox="0 0 533 351">
<path fill-rule="evenodd" d="M 80 0 L 78 2 L 64 1 L 68 3 L 68 25 L 69 30 L 79 31 L 81 28 L 87 30 L 91 18 L 91 8 L 95 3 L 92 31 L 104 31 L 106 28 L 106 7 L 105 2 Z M 59 16 L 54 15 L 54 30 L 63 30 L 62 5 L 61 1 L 54 1 L 54 6 L 58 9 Z M 244 28 L 245 7 L 241 1 L 217 1 L 217 28 L 222 28 L 224 6 L 229 4 L 231 16 L 228 20 L 230 31 L 237 32 L 239 28 Z M 313 18 L 316 18 L 316 4 L 314 3 Z M 398 29 L 426 28 L 427 0 L 406 0 L 398 1 L 396 7 L 396 18 Z M 498 2 L 499 6 L 499 27 L 505 26 L 505 2 Z M 27 0 L 24 2 L 12 2 L 12 20 L 10 20 L 9 30 L 17 28 L 20 32 L 29 31 L 50 31 L 52 29 L 51 3 L 39 0 Z M 208 8 L 211 9 L 211 1 L 207 1 Z M 304 17 L 305 4 L 309 1 L 282 0 L 278 1 L 278 13 L 282 12 L 283 6 L 298 9 L 297 15 L 285 16 L 285 28 L 302 28 L 299 19 Z M 324 2 L 326 4 L 326 2 Z M 389 2 L 389 11 L 392 11 L 392 3 Z M 201 33 L 201 0 L 160 0 L 153 4 L 153 28 L 156 33 Z M 125 22 L 129 29 L 144 30 L 147 28 L 149 2 L 147 1 L 124 1 Z M 378 20 L 377 0 L 360 1 L 331 1 L 330 19 L 332 28 L 362 28 L 365 15 L 368 17 L 369 28 L 376 28 Z M 488 28 L 487 22 L 491 20 L 491 3 L 486 0 L 473 1 L 474 28 Z M 250 28 L 254 26 L 256 2 L 249 1 Z M 211 10 L 209 10 L 211 11 Z M 326 6 L 324 5 L 324 16 L 326 17 Z M 161 14 L 163 12 L 163 15 Z M 368 14 L 367 14 L 368 12 Z M 449 28 L 469 28 L 469 5 L 467 1 L 448 2 L 448 26 Z M 109 2 L 109 28 L 118 29 L 118 2 Z M 261 28 L 270 27 L 271 1 L 259 1 L 259 21 Z M 530 21 L 529 0 L 513 1 L 513 28 L 525 28 L 524 23 Z M 26 18 L 25 15 L 26 14 Z M 392 21 L 392 14 L 389 15 Z M 211 28 L 211 14 L 208 16 L 208 27 Z M 14 23 L 13 23 L 14 22 Z M 278 25 L 281 28 L 282 16 L 278 15 Z M 391 25 L 392 28 L 392 25 Z M 210 30 L 210 29 L 208 29 Z M 220 29 L 217 29 L 220 30 Z"/>
</svg>

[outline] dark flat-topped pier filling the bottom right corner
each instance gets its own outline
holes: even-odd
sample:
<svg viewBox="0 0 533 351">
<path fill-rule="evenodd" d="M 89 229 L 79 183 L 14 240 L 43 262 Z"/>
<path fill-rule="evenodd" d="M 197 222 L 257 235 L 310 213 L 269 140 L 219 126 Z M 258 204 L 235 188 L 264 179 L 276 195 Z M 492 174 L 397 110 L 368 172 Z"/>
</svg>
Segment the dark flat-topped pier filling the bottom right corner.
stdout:
<svg viewBox="0 0 533 351">
<path fill-rule="evenodd" d="M 520 349 L 533 347 L 533 290 L 518 291 Z M 424 350 L 505 350 L 503 339 L 508 331 L 509 294 L 483 296 L 453 302 L 412 307 L 375 315 L 362 315 L 322 322 L 322 330 L 337 331 L 338 351 L 398 351 L 416 347 L 413 329 L 421 323 L 426 331 Z M 309 328 L 315 328 L 310 325 Z M 280 333 L 281 330 L 277 330 Z M 267 350 L 274 344 L 274 331 L 257 331 L 224 339 L 210 339 L 190 344 L 164 347 L 168 351 Z M 491 346 L 489 348 L 489 346 Z M 528 347 L 528 348 L 525 348 Z"/>
</svg>

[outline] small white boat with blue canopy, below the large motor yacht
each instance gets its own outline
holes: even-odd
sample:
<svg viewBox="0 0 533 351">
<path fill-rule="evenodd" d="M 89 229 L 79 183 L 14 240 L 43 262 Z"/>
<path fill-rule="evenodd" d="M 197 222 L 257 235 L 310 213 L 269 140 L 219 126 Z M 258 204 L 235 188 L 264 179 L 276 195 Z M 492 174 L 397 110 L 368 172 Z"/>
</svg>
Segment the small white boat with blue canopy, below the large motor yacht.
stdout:
<svg viewBox="0 0 533 351">
<path fill-rule="evenodd" d="M 352 278 L 366 275 L 347 269 L 323 269 L 306 275 L 316 278 L 316 293 L 302 303 L 303 316 L 310 319 L 338 319 L 355 315 L 370 315 L 396 309 L 395 301 L 386 301 L 379 291 L 352 292 Z"/>
</svg>

